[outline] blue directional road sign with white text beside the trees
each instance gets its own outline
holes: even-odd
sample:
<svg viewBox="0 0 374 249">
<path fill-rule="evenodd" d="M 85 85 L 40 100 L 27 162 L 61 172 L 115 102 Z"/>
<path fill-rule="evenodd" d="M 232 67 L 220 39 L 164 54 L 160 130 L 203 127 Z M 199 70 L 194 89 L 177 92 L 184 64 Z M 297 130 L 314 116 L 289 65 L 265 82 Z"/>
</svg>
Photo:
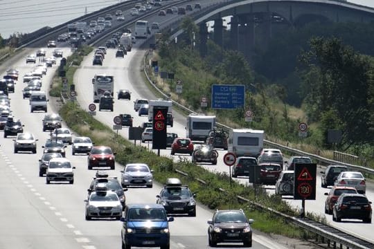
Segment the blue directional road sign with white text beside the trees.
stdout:
<svg viewBox="0 0 374 249">
<path fill-rule="evenodd" d="M 212 85 L 213 109 L 237 109 L 244 107 L 244 85 Z"/>
</svg>

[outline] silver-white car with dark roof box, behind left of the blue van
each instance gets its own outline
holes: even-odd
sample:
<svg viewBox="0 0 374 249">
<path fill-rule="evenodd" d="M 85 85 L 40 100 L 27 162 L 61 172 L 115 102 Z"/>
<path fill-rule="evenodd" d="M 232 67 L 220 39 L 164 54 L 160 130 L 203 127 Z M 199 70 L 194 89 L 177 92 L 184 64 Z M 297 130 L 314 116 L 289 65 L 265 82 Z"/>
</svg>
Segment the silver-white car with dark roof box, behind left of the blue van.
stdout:
<svg viewBox="0 0 374 249">
<path fill-rule="evenodd" d="M 95 192 L 91 192 L 86 203 L 85 219 L 92 218 L 114 218 L 121 219 L 122 204 L 116 192 L 107 190 L 106 185 L 99 184 Z"/>
</svg>

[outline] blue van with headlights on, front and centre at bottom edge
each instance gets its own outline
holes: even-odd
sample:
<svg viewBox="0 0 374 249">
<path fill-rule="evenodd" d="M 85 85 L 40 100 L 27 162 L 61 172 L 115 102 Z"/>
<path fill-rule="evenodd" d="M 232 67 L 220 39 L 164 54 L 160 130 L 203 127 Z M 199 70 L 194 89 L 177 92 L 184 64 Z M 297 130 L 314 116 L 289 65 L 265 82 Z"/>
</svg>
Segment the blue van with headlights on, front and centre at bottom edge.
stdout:
<svg viewBox="0 0 374 249">
<path fill-rule="evenodd" d="M 122 248 L 132 248 L 132 246 L 170 248 L 168 223 L 174 221 L 174 217 L 168 217 L 162 205 L 128 204 L 121 221 Z"/>
</svg>

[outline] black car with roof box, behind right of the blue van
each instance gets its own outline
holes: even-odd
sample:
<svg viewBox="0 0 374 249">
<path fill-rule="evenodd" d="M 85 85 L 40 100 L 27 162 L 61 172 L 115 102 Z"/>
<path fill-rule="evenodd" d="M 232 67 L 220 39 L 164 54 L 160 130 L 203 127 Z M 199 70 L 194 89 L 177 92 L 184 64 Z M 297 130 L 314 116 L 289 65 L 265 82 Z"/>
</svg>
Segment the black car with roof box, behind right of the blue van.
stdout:
<svg viewBox="0 0 374 249">
<path fill-rule="evenodd" d="M 188 186 L 181 185 L 177 178 L 168 178 L 158 194 L 156 203 L 163 205 L 167 214 L 188 214 L 196 216 L 196 194 Z"/>
</svg>

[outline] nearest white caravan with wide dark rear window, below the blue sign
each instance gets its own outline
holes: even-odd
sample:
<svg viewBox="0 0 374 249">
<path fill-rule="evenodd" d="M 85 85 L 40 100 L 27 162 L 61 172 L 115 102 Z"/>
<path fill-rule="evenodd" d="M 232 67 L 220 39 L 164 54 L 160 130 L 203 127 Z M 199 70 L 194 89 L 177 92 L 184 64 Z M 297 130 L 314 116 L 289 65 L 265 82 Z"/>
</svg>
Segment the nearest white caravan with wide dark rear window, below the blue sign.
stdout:
<svg viewBox="0 0 374 249">
<path fill-rule="evenodd" d="M 235 156 L 258 157 L 264 145 L 265 133 L 255 129 L 231 129 L 227 140 L 227 151 Z"/>
</svg>

